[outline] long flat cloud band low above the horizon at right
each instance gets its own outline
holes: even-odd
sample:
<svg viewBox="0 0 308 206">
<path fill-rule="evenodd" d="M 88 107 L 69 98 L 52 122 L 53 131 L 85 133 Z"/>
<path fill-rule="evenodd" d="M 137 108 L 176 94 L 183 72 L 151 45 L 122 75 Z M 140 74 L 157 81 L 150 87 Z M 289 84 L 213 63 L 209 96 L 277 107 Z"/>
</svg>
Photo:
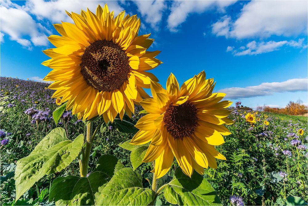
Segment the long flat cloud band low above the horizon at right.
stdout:
<svg viewBox="0 0 308 206">
<path fill-rule="evenodd" d="M 285 82 L 266 82 L 258 86 L 231 87 L 219 90 L 226 94 L 227 99 L 268 96 L 274 92 L 307 91 L 308 79 L 289 79 Z"/>
</svg>

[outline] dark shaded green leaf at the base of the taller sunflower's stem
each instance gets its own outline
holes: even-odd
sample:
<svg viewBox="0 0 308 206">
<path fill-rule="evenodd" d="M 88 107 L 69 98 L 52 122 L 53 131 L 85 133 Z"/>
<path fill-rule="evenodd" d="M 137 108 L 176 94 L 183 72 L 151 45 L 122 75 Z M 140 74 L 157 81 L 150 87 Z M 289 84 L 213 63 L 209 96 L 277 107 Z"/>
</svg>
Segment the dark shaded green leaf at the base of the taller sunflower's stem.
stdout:
<svg viewBox="0 0 308 206">
<path fill-rule="evenodd" d="M 49 201 L 56 205 L 94 205 L 96 196 L 101 194 L 105 184 L 124 165 L 109 154 L 99 158 L 93 172 L 88 177 L 58 177 L 51 184 Z"/>
</svg>

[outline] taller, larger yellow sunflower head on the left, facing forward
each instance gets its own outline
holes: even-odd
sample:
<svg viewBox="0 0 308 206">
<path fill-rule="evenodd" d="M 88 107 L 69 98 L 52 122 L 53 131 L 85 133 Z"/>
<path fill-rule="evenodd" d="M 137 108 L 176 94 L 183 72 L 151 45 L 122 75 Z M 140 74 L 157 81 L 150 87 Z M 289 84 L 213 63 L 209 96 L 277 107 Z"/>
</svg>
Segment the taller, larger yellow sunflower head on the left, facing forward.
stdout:
<svg viewBox="0 0 308 206">
<path fill-rule="evenodd" d="M 124 111 L 134 113 L 134 102 L 148 95 L 141 87 L 149 88 L 158 79 L 146 72 L 160 65 L 159 51 L 146 51 L 154 41 L 150 34 L 138 36 L 140 19 L 125 16 L 122 11 L 115 18 L 107 4 L 98 6 L 96 15 L 89 11 L 68 13 L 75 24 L 54 24 L 62 35 L 51 35 L 50 42 L 57 48 L 43 51 L 51 59 L 42 64 L 53 69 L 45 78 L 55 81 L 49 89 L 53 98 L 67 101 L 78 118 L 91 119 L 103 115 L 113 121 Z"/>
</svg>

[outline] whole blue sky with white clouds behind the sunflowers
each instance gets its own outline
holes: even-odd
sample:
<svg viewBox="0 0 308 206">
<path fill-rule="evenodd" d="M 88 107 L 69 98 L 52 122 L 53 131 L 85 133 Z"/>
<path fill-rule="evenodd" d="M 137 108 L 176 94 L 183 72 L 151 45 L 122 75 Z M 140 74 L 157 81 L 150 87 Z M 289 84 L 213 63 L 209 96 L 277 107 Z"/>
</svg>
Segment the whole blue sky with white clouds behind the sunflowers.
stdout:
<svg viewBox="0 0 308 206">
<path fill-rule="evenodd" d="M 205 70 L 234 103 L 307 104 L 307 1 L 1 1 L 1 76 L 43 79 L 52 24 L 105 3 L 137 14 L 139 35 L 152 33 L 149 51 L 164 63 L 151 72 L 163 86 L 170 72 L 182 84 Z"/>
</svg>

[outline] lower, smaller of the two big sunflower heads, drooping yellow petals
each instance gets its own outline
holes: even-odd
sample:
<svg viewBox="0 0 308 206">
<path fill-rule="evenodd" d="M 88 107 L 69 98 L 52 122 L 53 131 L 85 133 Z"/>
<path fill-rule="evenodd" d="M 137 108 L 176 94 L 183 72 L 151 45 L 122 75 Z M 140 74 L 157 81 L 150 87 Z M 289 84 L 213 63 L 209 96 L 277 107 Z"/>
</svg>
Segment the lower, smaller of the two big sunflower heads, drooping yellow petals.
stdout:
<svg viewBox="0 0 308 206">
<path fill-rule="evenodd" d="M 232 102 L 219 102 L 225 94 L 212 93 L 214 85 L 213 79 L 205 79 L 204 71 L 181 88 L 173 74 L 167 80 L 167 90 L 151 82 L 153 99 L 140 102 L 149 114 L 135 125 L 140 130 L 130 143 L 151 141 L 142 161 L 155 161 L 157 178 L 168 172 L 174 157 L 188 176 L 193 169 L 203 174 L 208 166 L 217 168 L 215 158 L 225 160 L 215 145 L 225 142 L 222 135 L 231 134 L 223 124 L 233 124 L 227 118 L 230 111 L 224 109 Z"/>
</svg>

